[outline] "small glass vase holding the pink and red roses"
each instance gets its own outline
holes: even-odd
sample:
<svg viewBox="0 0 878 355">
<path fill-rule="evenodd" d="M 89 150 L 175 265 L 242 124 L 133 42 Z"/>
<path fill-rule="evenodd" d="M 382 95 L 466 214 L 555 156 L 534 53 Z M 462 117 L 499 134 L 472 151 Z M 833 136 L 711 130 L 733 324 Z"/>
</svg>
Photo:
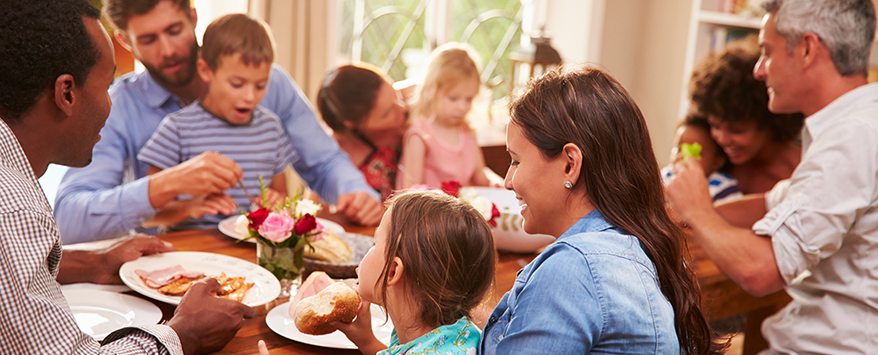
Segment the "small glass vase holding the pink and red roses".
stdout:
<svg viewBox="0 0 878 355">
<path fill-rule="evenodd" d="M 294 293 L 293 288 L 299 287 L 304 255 L 304 246 L 278 247 L 270 241 L 257 238 L 257 263 L 277 277 L 280 282 L 278 298 L 290 297 Z"/>
</svg>

